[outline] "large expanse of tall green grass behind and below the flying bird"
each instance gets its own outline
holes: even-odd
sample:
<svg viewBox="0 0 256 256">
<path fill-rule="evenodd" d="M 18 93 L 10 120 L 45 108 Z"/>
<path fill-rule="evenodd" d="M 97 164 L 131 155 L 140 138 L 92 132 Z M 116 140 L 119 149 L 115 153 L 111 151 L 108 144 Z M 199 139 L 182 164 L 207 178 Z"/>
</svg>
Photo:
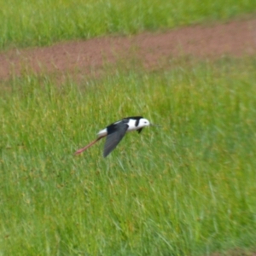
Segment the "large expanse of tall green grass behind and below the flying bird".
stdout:
<svg viewBox="0 0 256 256">
<path fill-rule="evenodd" d="M 255 63 L 183 63 L 61 86 L 13 79 L 0 97 L 0 254 L 255 250 Z M 136 114 L 162 127 L 126 135 L 106 159 L 103 141 L 73 155 Z"/>
</svg>

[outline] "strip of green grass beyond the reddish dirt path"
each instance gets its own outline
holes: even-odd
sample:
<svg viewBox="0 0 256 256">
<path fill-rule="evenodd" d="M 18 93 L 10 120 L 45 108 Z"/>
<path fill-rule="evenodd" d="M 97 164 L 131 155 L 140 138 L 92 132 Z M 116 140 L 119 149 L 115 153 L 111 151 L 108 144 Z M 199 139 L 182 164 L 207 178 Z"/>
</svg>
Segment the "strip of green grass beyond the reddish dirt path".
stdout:
<svg viewBox="0 0 256 256">
<path fill-rule="evenodd" d="M 255 13 L 254 0 L 0 0 L 0 49 L 187 26 Z"/>
</svg>

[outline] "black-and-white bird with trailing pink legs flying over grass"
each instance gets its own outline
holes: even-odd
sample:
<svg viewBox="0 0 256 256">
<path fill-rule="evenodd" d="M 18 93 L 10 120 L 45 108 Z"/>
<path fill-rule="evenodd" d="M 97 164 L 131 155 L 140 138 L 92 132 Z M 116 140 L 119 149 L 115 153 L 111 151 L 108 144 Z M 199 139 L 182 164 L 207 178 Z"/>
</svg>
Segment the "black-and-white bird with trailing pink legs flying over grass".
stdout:
<svg viewBox="0 0 256 256">
<path fill-rule="evenodd" d="M 143 127 L 149 125 L 152 124 L 150 124 L 148 119 L 144 119 L 142 116 L 131 116 L 121 119 L 111 125 L 108 125 L 102 131 L 99 131 L 96 140 L 89 143 L 84 148 L 80 148 L 75 152 L 75 154 L 81 154 L 84 150 L 90 148 L 92 145 L 102 139 L 102 137 L 107 137 L 103 151 L 103 156 L 106 157 L 119 144 L 127 131 L 138 131 L 138 133 L 140 133 L 143 131 Z"/>
</svg>

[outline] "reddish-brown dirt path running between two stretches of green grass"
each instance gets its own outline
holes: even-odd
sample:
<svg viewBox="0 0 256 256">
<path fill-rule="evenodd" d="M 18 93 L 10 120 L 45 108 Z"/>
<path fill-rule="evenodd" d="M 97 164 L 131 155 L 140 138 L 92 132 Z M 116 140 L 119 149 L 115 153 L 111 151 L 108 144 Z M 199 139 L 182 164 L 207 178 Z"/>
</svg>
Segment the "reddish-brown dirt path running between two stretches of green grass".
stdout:
<svg viewBox="0 0 256 256">
<path fill-rule="evenodd" d="M 37 49 L 12 49 L 0 54 L 0 80 L 26 67 L 36 73 L 88 73 L 104 63 L 136 57 L 156 67 L 172 56 L 220 57 L 256 54 L 256 19 L 190 26 L 137 36 L 94 38 Z"/>
</svg>

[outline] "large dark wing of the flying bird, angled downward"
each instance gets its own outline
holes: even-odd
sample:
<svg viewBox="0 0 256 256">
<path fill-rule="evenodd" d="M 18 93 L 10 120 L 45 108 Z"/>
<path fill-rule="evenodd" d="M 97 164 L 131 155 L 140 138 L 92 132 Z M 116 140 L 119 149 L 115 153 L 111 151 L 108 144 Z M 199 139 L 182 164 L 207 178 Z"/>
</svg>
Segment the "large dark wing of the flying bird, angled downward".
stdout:
<svg viewBox="0 0 256 256">
<path fill-rule="evenodd" d="M 119 122 L 118 124 L 112 126 L 112 131 L 108 134 L 106 143 L 104 146 L 103 156 L 106 157 L 111 151 L 119 144 L 121 139 L 125 136 L 125 132 L 127 131 L 129 125 L 124 122 Z"/>
</svg>

